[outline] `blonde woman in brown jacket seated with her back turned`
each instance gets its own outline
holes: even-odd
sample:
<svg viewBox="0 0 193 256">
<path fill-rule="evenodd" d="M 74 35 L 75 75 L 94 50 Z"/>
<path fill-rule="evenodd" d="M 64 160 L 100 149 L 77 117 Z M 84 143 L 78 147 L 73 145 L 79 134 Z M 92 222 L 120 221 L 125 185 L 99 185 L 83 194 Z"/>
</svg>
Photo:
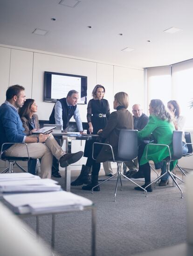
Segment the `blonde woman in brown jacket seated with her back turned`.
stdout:
<svg viewBox="0 0 193 256">
<path fill-rule="evenodd" d="M 129 106 L 129 96 L 125 92 L 118 92 L 115 94 L 113 108 L 116 110 L 110 114 L 107 125 L 104 129 L 98 130 L 98 135 L 103 138 L 104 143 L 108 143 L 112 146 L 114 155 L 117 155 L 119 131 L 121 129 L 133 129 L 133 117 L 130 111 L 127 110 Z M 90 151 L 92 151 L 90 149 Z M 105 162 L 112 159 L 111 151 L 107 150 L 105 146 L 95 161 L 98 168 L 92 170 L 91 184 L 83 186 L 83 190 L 91 190 L 98 185 L 98 173 L 100 170 L 100 162 Z M 94 188 L 95 191 L 99 191 L 100 187 Z"/>
</svg>

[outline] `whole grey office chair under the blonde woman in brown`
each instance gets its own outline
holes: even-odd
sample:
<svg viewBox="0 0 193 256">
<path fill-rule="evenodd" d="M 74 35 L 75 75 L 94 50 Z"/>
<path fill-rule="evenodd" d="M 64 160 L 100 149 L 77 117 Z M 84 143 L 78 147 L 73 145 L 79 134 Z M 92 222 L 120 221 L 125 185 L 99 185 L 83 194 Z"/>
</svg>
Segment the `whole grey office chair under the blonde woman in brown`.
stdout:
<svg viewBox="0 0 193 256">
<path fill-rule="evenodd" d="M 139 186 L 135 181 L 126 177 L 122 173 L 122 169 L 121 169 L 123 162 L 136 159 L 137 156 L 138 156 L 138 131 L 137 130 L 126 130 L 126 129 L 125 130 L 120 130 L 119 141 L 118 141 L 118 153 L 117 153 L 116 159 L 115 159 L 115 156 L 114 156 L 112 146 L 109 145 L 109 144 L 99 143 L 99 142 L 94 142 L 94 144 L 93 144 L 93 151 L 92 151 L 93 159 L 95 159 L 94 158 L 94 155 L 95 155 L 94 148 L 95 148 L 96 145 L 106 145 L 106 146 L 110 147 L 111 153 L 112 153 L 112 159 L 110 159 L 109 161 L 110 162 L 117 162 L 117 173 L 115 173 L 110 178 L 108 178 L 106 180 L 103 180 L 97 186 L 99 186 L 99 185 L 103 184 L 104 182 L 106 182 L 107 180 L 110 180 L 113 177 L 117 176 L 117 183 L 116 183 L 115 194 L 114 194 L 114 201 L 116 201 L 118 180 L 120 180 L 121 190 L 122 190 L 121 176 L 123 176 L 124 178 L 126 178 L 127 180 L 130 180 L 132 183 L 134 183 L 138 187 L 142 188 L 145 192 L 145 196 L 147 196 L 146 189 Z M 95 186 L 95 187 L 97 187 L 97 186 Z M 92 188 L 92 194 L 93 194 L 93 189 L 95 187 Z"/>
</svg>

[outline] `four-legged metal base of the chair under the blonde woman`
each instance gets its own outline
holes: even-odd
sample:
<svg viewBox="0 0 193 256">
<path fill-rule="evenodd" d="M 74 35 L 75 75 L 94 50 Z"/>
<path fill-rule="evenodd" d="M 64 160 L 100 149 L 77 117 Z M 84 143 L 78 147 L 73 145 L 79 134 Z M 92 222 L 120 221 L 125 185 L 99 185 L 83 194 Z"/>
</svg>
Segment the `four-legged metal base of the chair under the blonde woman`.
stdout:
<svg viewBox="0 0 193 256">
<path fill-rule="evenodd" d="M 130 178 L 126 177 L 122 172 L 121 172 L 121 166 L 122 166 L 122 162 L 118 163 L 117 162 L 117 173 L 113 174 L 111 177 L 109 177 L 106 180 L 103 180 L 102 182 L 100 182 L 98 185 L 96 185 L 95 187 L 98 187 L 100 185 L 102 185 L 104 182 L 112 179 L 113 177 L 117 176 L 117 183 L 116 183 L 116 187 L 115 187 L 115 194 L 114 194 L 114 202 L 116 202 L 116 196 L 117 196 L 117 186 L 118 186 L 118 180 L 120 180 L 121 183 L 121 190 L 123 190 L 123 185 L 122 185 L 122 180 L 121 180 L 121 176 L 126 178 L 127 180 L 130 180 L 132 183 L 134 183 L 136 186 L 140 187 L 142 190 L 144 190 L 145 193 L 145 197 L 147 197 L 147 190 L 141 186 L 139 186 L 135 181 L 131 180 Z M 93 190 L 94 188 L 92 188 L 92 194 L 93 194 Z"/>
</svg>

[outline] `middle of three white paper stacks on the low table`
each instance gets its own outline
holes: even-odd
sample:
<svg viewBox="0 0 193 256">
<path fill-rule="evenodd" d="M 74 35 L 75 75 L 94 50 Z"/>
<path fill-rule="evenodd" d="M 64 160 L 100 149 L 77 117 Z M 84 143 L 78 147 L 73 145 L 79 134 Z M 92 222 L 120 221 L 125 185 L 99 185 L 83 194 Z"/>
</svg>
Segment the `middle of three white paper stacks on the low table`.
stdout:
<svg viewBox="0 0 193 256">
<path fill-rule="evenodd" d="M 12 175 L 12 174 L 9 174 Z M 58 191 L 61 186 L 57 181 L 50 179 L 28 179 L 28 180 L 2 180 L 0 179 L 0 192 L 41 192 Z"/>
</svg>

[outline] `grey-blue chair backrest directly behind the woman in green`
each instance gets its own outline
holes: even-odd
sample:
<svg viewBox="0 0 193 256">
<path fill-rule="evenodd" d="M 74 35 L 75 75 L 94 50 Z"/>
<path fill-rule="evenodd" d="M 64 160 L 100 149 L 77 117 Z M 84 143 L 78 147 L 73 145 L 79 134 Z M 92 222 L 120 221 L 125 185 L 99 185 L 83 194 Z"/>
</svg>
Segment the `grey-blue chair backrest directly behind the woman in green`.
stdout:
<svg viewBox="0 0 193 256">
<path fill-rule="evenodd" d="M 172 160 L 180 159 L 182 157 L 182 131 L 173 131 L 172 146 Z"/>
</svg>

